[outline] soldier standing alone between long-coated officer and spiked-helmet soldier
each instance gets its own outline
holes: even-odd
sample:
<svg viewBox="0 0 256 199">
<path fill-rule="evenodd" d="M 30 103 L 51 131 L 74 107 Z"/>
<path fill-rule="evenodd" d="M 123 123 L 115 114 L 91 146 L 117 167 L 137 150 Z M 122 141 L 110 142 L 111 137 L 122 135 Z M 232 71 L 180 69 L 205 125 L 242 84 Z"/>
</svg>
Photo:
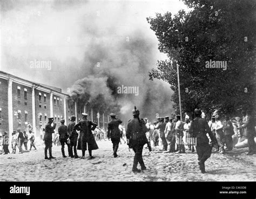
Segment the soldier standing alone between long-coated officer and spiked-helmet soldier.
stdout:
<svg viewBox="0 0 256 199">
<path fill-rule="evenodd" d="M 121 132 L 119 129 L 120 123 L 122 123 L 121 120 L 116 118 L 116 114 L 110 113 L 111 121 L 109 122 L 107 126 L 107 139 L 111 139 L 113 143 L 113 155 L 114 157 L 117 157 L 117 149 L 120 142 Z"/>
</svg>

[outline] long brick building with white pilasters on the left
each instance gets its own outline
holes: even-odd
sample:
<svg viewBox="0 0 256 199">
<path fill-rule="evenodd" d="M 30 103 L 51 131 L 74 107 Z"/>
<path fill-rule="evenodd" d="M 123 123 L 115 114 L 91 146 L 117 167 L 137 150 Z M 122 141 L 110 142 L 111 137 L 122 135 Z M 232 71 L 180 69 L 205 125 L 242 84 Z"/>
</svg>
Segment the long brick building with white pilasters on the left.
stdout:
<svg viewBox="0 0 256 199">
<path fill-rule="evenodd" d="M 33 83 L 12 74 L 0 71 L 0 133 L 11 133 L 18 127 L 25 128 L 25 122 L 33 127 L 36 137 L 40 136 L 39 125 L 43 127 L 49 117 L 69 123 L 75 107 L 68 107 L 69 95 L 60 88 Z M 35 130 L 36 129 L 36 130 Z"/>
</svg>

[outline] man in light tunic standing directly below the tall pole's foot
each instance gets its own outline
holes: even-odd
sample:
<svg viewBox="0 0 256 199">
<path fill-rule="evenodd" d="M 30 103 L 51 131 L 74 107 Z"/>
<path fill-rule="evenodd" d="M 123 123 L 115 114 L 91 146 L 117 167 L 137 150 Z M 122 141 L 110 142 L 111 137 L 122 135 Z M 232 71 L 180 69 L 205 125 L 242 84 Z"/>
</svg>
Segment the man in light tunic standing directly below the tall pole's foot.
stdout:
<svg viewBox="0 0 256 199">
<path fill-rule="evenodd" d="M 177 118 L 177 122 L 176 122 L 176 126 L 175 126 L 175 130 L 176 130 L 176 144 L 178 146 L 178 153 L 185 153 L 185 146 L 184 146 L 184 142 L 183 142 L 183 122 L 180 121 L 180 115 L 176 115 Z"/>
</svg>

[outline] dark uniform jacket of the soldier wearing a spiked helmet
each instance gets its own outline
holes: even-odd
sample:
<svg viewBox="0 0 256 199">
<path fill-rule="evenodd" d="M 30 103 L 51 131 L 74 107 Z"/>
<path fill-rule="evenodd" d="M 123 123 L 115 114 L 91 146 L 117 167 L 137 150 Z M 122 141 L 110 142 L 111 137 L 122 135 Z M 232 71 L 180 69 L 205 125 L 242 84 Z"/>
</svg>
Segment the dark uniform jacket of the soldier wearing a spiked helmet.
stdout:
<svg viewBox="0 0 256 199">
<path fill-rule="evenodd" d="M 144 146 L 147 143 L 146 133 L 147 127 L 142 120 L 133 118 L 128 122 L 126 130 L 126 138 L 129 139 L 129 147 Z"/>
</svg>

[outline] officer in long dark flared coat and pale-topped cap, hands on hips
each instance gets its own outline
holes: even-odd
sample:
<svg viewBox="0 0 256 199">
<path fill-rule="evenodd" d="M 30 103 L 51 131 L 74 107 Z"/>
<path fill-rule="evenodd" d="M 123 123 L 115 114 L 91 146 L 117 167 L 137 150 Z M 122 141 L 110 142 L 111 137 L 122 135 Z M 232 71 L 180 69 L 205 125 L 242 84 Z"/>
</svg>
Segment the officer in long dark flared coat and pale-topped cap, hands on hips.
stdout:
<svg viewBox="0 0 256 199">
<path fill-rule="evenodd" d="M 87 150 L 87 145 L 88 145 L 90 159 L 93 159 L 94 157 L 92 156 L 92 150 L 96 150 L 99 148 L 92 134 L 92 131 L 94 131 L 95 128 L 97 127 L 97 123 L 94 123 L 91 120 L 88 120 L 86 113 L 82 113 L 82 115 L 83 115 L 82 120 L 80 120 L 75 125 L 75 129 L 80 131 L 77 150 L 82 150 L 81 159 L 84 159 L 85 150 Z"/>
</svg>

